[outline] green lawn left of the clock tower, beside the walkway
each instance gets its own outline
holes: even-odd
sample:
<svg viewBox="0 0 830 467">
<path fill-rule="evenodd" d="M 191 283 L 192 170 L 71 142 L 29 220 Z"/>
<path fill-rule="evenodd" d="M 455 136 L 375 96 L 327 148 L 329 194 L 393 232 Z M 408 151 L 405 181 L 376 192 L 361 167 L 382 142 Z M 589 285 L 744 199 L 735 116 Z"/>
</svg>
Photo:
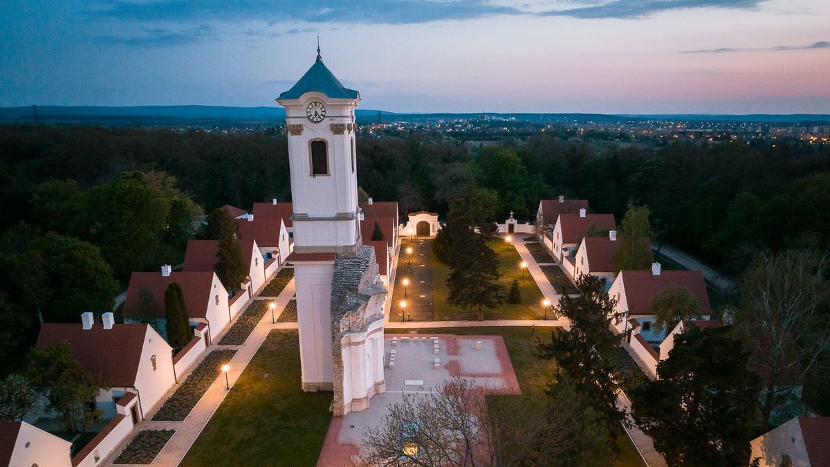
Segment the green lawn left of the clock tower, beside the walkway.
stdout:
<svg viewBox="0 0 830 467">
<path fill-rule="evenodd" d="M 331 398 L 300 389 L 297 332 L 271 331 L 180 465 L 316 465 Z"/>
</svg>

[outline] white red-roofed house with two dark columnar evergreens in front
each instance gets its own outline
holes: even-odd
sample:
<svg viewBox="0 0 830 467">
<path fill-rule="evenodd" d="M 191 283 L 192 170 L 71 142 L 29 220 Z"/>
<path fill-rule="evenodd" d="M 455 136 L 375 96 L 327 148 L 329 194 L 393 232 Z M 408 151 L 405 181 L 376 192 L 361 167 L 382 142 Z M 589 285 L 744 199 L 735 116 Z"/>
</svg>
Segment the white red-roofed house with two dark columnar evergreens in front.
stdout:
<svg viewBox="0 0 830 467">
<path fill-rule="evenodd" d="M 179 273 L 165 266 L 161 273 L 133 273 L 124 303 L 125 322 L 153 320 L 154 327 L 166 337 L 164 291 L 171 283 L 178 283 L 182 288 L 191 327 L 202 322 L 207 324 L 207 345 L 210 345 L 232 320 L 227 290 L 213 272 Z"/>
</svg>

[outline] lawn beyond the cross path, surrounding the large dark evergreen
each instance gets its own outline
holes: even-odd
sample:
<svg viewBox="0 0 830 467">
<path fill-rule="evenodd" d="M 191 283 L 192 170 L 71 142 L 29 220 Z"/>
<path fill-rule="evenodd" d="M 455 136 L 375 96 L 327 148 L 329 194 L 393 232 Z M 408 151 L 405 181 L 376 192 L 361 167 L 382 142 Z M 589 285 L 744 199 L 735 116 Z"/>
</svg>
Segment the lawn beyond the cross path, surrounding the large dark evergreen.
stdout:
<svg viewBox="0 0 830 467">
<path fill-rule="evenodd" d="M 513 279 L 518 279 L 521 302 L 515 304 L 503 302 L 497 309 L 485 309 L 484 319 L 541 319 L 544 317 L 542 292 L 540 292 L 533 278 L 530 277 L 530 273 L 525 271 L 524 278 L 522 277 L 522 270 L 519 266 L 521 257 L 513 245 L 500 238 L 490 238 L 487 240 L 487 246 L 493 248 L 493 251 L 499 257 L 499 272 L 501 273 L 499 283 L 505 288 L 505 297 L 510 290 Z M 458 307 L 447 304 L 447 296 L 449 295 L 447 278 L 451 272 L 447 264 L 441 263 L 435 258 L 435 255 L 432 255 L 432 293 L 435 319 L 437 321 L 476 319 L 475 310 L 463 311 Z"/>
</svg>

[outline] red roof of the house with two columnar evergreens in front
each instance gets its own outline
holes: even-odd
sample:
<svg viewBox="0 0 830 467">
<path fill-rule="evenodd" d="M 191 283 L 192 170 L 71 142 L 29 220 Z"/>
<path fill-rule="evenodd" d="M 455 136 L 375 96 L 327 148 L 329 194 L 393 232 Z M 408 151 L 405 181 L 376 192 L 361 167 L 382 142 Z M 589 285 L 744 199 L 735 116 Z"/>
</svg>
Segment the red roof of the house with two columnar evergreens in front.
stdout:
<svg viewBox="0 0 830 467">
<path fill-rule="evenodd" d="M 141 291 L 147 289 L 150 297 L 155 302 L 155 316 L 165 317 L 164 312 L 164 291 L 170 283 L 178 283 L 184 294 L 184 305 L 188 307 L 188 317 L 198 318 L 207 315 L 207 304 L 210 302 L 214 291 L 212 290 L 213 276 L 210 271 L 194 273 L 170 273 L 164 277 L 161 273 L 133 273 L 129 278 L 127 298 L 124 303 L 125 317 L 142 317 L 139 306 L 141 304 Z M 217 290 L 215 293 L 227 293 L 225 290 Z"/>
</svg>

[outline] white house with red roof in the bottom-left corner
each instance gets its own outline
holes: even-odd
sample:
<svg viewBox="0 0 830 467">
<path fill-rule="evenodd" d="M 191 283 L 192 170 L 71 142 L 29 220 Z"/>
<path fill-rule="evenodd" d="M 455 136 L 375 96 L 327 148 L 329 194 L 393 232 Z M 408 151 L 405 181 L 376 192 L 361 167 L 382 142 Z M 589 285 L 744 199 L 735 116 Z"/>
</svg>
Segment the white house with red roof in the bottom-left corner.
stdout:
<svg viewBox="0 0 830 467">
<path fill-rule="evenodd" d="M 0 465 L 72 467 L 72 443 L 25 421 L 0 421 Z"/>
</svg>

